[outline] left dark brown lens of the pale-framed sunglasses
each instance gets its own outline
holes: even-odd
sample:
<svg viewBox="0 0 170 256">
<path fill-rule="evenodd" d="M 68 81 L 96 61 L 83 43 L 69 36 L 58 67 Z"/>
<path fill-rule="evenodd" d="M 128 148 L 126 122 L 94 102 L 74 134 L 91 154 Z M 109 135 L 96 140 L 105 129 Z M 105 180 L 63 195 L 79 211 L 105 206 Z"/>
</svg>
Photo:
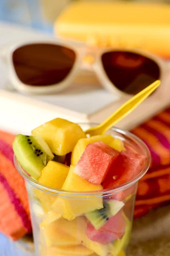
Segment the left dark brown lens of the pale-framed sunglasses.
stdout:
<svg viewBox="0 0 170 256">
<path fill-rule="evenodd" d="M 24 84 L 51 85 L 64 80 L 74 66 L 75 52 L 55 44 L 29 44 L 13 53 L 14 69 Z"/>
</svg>

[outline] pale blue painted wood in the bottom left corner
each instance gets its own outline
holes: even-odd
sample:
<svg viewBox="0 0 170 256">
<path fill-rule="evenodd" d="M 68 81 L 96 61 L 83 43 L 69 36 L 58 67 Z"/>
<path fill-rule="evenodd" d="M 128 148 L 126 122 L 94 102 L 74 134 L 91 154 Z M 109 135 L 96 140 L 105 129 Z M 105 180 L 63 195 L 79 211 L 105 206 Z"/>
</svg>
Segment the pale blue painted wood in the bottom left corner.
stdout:
<svg viewBox="0 0 170 256">
<path fill-rule="evenodd" d="M 0 256 L 34 256 L 0 233 Z"/>
</svg>

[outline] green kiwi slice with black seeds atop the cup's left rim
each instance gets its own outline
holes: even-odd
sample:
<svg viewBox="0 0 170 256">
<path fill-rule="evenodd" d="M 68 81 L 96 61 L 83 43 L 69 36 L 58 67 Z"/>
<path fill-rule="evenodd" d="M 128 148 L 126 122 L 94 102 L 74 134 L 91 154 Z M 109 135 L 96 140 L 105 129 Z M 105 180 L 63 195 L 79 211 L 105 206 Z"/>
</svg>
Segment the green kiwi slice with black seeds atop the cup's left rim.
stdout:
<svg viewBox="0 0 170 256">
<path fill-rule="evenodd" d="M 18 134 L 13 142 L 14 154 L 20 165 L 36 180 L 53 153 L 41 136 L 26 136 Z"/>
</svg>

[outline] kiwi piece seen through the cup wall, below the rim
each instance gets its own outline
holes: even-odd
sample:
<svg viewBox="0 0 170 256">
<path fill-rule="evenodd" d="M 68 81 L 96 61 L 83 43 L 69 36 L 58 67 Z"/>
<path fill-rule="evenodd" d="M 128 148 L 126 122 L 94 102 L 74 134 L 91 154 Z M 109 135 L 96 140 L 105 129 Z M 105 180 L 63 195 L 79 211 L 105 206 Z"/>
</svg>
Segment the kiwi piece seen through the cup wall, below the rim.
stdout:
<svg viewBox="0 0 170 256">
<path fill-rule="evenodd" d="M 124 203 L 114 199 L 103 201 L 103 208 L 88 212 L 85 214 L 86 218 L 91 222 L 96 230 L 103 227 L 106 221 L 112 216 L 116 215 L 117 212 L 124 206 Z"/>
</svg>

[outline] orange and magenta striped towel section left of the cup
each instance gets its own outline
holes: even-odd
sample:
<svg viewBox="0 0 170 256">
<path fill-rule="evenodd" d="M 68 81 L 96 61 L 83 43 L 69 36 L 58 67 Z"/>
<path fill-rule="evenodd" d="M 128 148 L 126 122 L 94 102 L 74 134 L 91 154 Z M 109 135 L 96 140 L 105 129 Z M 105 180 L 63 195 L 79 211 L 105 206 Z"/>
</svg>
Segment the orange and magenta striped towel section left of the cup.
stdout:
<svg viewBox="0 0 170 256">
<path fill-rule="evenodd" d="M 31 220 L 25 183 L 13 163 L 14 137 L 0 131 L 0 232 L 17 240 L 31 233 Z"/>
</svg>

